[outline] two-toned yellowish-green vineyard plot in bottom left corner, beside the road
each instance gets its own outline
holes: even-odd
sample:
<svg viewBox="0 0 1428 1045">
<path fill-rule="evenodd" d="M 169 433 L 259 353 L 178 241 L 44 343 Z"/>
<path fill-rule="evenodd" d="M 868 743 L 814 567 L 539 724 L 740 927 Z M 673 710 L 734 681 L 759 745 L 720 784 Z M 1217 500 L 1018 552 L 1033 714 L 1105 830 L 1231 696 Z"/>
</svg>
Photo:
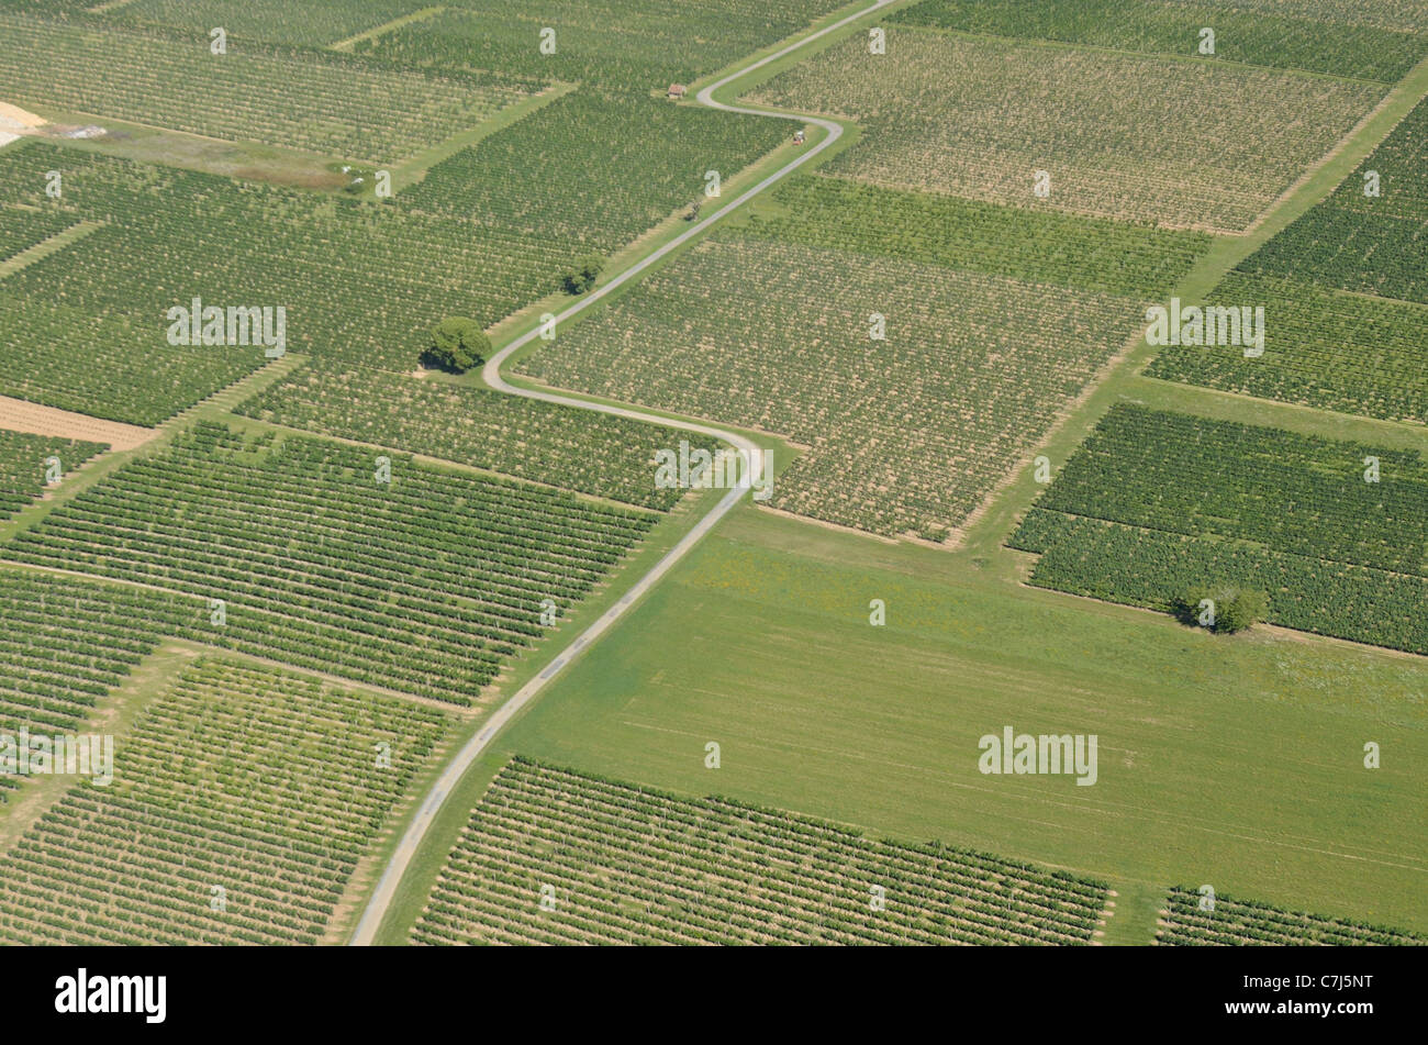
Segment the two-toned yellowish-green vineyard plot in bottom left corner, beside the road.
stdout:
<svg viewBox="0 0 1428 1045">
<path fill-rule="evenodd" d="M 0 858 L 0 939 L 316 944 L 447 725 L 200 661 L 120 738 L 110 785 L 70 788 Z"/>
</svg>

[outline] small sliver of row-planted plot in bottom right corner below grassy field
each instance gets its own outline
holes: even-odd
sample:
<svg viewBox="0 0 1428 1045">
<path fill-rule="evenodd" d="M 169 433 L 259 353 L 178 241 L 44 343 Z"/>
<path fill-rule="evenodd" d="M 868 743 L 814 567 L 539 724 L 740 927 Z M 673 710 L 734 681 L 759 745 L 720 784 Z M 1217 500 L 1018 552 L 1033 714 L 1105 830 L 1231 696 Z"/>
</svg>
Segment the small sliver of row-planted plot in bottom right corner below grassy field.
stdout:
<svg viewBox="0 0 1428 1045">
<path fill-rule="evenodd" d="M 1214 911 L 1200 909 L 1195 889 L 1177 887 L 1155 942 L 1171 946 L 1424 946 L 1428 938 L 1361 921 L 1284 911 L 1250 899 L 1217 895 Z"/>
</svg>

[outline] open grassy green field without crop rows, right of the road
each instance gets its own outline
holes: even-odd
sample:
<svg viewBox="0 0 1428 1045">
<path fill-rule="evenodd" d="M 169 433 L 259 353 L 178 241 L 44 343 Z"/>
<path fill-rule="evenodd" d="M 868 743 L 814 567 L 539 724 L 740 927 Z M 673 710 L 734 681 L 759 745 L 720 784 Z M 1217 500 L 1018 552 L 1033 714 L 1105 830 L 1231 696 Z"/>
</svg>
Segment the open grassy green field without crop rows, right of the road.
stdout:
<svg viewBox="0 0 1428 1045">
<path fill-rule="evenodd" d="M 1151 942 L 1181 881 L 1422 931 L 1425 691 L 1417 658 L 1227 641 L 975 558 L 741 511 L 501 748 L 1105 878 L 1127 898 L 1121 942 Z M 1097 734 L 1098 782 L 980 774 L 978 738 L 1005 725 Z M 1391 752 L 1381 769 L 1365 741 Z M 428 884 L 458 828 L 424 851 Z"/>
</svg>

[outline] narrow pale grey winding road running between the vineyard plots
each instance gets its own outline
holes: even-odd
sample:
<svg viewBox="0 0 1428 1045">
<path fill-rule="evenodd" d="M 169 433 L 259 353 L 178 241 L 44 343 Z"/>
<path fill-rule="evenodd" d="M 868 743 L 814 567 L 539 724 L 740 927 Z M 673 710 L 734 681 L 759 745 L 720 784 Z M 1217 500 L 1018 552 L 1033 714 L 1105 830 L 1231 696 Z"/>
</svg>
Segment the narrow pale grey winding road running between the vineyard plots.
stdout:
<svg viewBox="0 0 1428 1045">
<path fill-rule="evenodd" d="M 725 113 L 745 113 L 751 116 L 764 116 L 773 120 L 794 120 L 797 123 L 823 127 L 825 131 L 828 131 L 828 134 L 818 144 L 813 146 L 805 153 L 801 153 L 797 158 L 784 164 L 758 184 L 741 193 L 731 204 L 723 207 L 718 213 L 687 228 L 684 233 L 670 240 L 663 247 L 643 257 L 637 264 L 631 266 L 630 268 L 625 268 L 623 273 L 610 280 L 610 283 L 593 291 L 588 297 L 583 297 L 574 304 L 571 304 L 568 308 L 565 308 L 555 317 L 557 328 L 565 320 L 578 315 L 585 308 L 590 308 L 605 294 L 614 293 L 618 287 L 623 287 L 630 280 L 638 277 L 640 273 L 645 271 L 650 266 L 657 264 L 671 251 L 675 251 L 680 247 L 683 247 L 685 243 L 688 243 L 691 238 L 703 233 L 715 221 L 720 221 L 727 214 L 731 214 L 733 211 L 738 210 L 745 203 L 753 200 L 755 196 L 767 190 L 770 186 L 777 184 L 784 177 L 798 170 L 798 167 L 804 166 L 824 150 L 833 147 L 833 144 L 840 137 L 843 137 L 843 127 L 834 123 L 833 120 L 820 120 L 810 116 L 800 116 L 797 113 L 773 113 L 761 108 L 725 106 L 723 101 L 714 100 L 714 91 L 717 91 L 718 89 L 724 87 L 728 83 L 733 83 L 741 76 L 747 76 L 748 73 L 753 73 L 757 69 L 763 69 L 764 66 L 773 61 L 778 61 L 784 56 L 791 54 L 793 51 L 801 47 L 807 47 L 814 40 L 825 37 L 830 33 L 838 31 L 848 23 L 857 21 L 858 19 L 863 19 L 871 14 L 873 11 L 878 10 L 880 7 L 888 6 L 890 3 L 894 3 L 894 0 L 875 0 L 875 3 L 868 4 L 863 10 L 850 14 L 845 19 L 838 20 L 831 26 L 825 26 L 817 33 L 811 33 L 810 36 L 805 36 L 801 40 L 788 44 L 783 50 L 774 51 L 773 54 L 760 59 L 758 61 L 750 63 L 748 66 L 744 66 L 738 71 L 730 73 L 724 79 L 701 90 L 697 96 L 697 100 L 700 101 L 700 104 L 708 106 L 710 108 L 718 108 Z M 738 433 L 725 431 L 723 428 L 715 428 L 703 424 L 685 424 L 681 421 L 671 421 L 667 417 L 657 417 L 655 414 L 647 414 L 640 410 L 633 410 L 628 407 L 613 407 L 601 403 L 585 403 L 584 400 L 568 398 L 554 391 L 518 388 L 513 384 L 508 384 L 506 378 L 501 377 L 501 364 L 506 363 L 506 360 L 508 360 L 513 353 L 530 344 L 538 335 L 540 335 L 540 328 L 537 327 L 534 330 L 527 331 L 526 334 L 521 334 L 518 338 L 516 338 L 504 348 L 501 348 L 498 353 L 491 355 L 491 358 L 487 361 L 486 367 L 481 371 L 481 377 L 486 380 L 486 383 L 491 388 L 507 393 L 508 395 L 523 395 L 528 400 L 544 400 L 545 403 L 560 403 L 561 405 L 575 407 L 577 410 L 594 410 L 601 414 L 628 417 L 635 421 L 650 421 L 653 424 L 680 428 L 683 431 L 698 433 L 701 435 L 713 435 L 714 438 L 724 440 L 725 443 L 745 453 L 757 451 L 754 443 L 744 438 Z M 563 650 L 561 654 L 555 657 L 555 660 L 553 660 L 545 667 L 544 671 L 541 671 L 536 678 L 523 685 L 510 700 L 507 700 L 500 708 L 497 708 L 496 712 L 481 727 L 480 732 L 477 732 L 470 741 L 467 741 L 466 745 L 451 758 L 451 761 L 447 762 L 446 768 L 441 771 L 441 775 L 437 778 L 436 784 L 433 784 L 431 791 L 427 792 L 426 798 L 423 799 L 421 808 L 417 811 L 417 815 L 411 819 L 411 824 L 407 827 L 407 832 L 401 837 L 401 842 L 397 845 L 396 852 L 393 852 L 391 859 L 387 862 L 387 868 L 383 871 L 383 875 L 377 882 L 377 888 L 373 891 L 371 898 L 367 902 L 366 911 L 363 911 L 361 921 L 358 921 L 357 929 L 353 932 L 350 941 L 351 945 L 366 946 L 376 939 L 377 927 L 381 925 L 381 919 L 386 917 L 387 909 L 391 905 L 393 897 L 396 897 L 397 885 L 401 882 L 403 875 L 406 875 L 407 868 L 411 865 L 411 858 L 416 855 L 417 847 L 421 844 L 421 839 L 426 837 L 427 831 L 431 828 L 431 824 L 436 821 L 437 812 L 441 809 L 441 804 L 446 801 L 447 795 L 450 795 L 451 791 L 456 788 L 457 782 L 461 779 L 466 771 L 471 768 L 471 764 L 481 755 L 483 751 L 486 751 L 486 748 L 496 738 L 496 735 L 500 734 L 501 730 L 506 728 L 506 725 L 517 714 L 520 714 L 520 711 L 527 704 L 530 704 L 541 690 L 545 688 L 545 685 L 561 671 L 561 668 L 567 667 L 573 660 L 575 660 L 575 657 L 584 652 L 595 640 L 600 638 L 600 635 L 605 632 L 605 630 L 610 625 L 618 621 L 625 614 L 625 611 L 631 605 L 634 605 L 635 600 L 638 600 L 650 588 L 658 584 L 660 578 L 664 577 L 674 567 L 675 562 L 684 558 L 690 552 L 690 550 L 694 548 L 695 544 L 704 540 L 705 534 L 708 534 L 714 528 L 714 525 L 721 518 L 724 518 L 724 515 L 728 514 L 730 508 L 738 504 L 744 493 L 745 490 L 735 487 L 730 490 L 724 497 L 721 497 L 718 504 L 715 504 L 714 508 L 711 508 L 710 513 L 704 515 L 704 518 L 701 518 L 694 525 L 694 528 L 684 535 L 684 538 L 678 544 L 675 544 L 668 552 L 665 552 L 665 555 L 658 562 L 654 564 L 650 572 L 647 572 L 644 577 L 635 581 L 634 587 L 631 587 L 630 591 L 627 591 L 614 607 L 607 610 L 604 614 L 601 614 L 598 621 L 585 628 L 580 634 L 580 637 L 575 638 L 574 642 L 571 642 L 565 650 Z"/>
</svg>

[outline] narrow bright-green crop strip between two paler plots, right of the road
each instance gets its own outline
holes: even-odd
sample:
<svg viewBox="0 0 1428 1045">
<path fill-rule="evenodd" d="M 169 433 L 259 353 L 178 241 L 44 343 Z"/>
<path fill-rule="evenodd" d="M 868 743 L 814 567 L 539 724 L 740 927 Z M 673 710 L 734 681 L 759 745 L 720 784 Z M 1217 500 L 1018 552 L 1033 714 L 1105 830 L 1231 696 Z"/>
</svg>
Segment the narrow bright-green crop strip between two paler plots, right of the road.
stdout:
<svg viewBox="0 0 1428 1045">
<path fill-rule="evenodd" d="M 745 236 L 1160 298 L 1210 247 L 1202 233 L 1035 213 L 932 193 L 797 177 Z"/>
</svg>

